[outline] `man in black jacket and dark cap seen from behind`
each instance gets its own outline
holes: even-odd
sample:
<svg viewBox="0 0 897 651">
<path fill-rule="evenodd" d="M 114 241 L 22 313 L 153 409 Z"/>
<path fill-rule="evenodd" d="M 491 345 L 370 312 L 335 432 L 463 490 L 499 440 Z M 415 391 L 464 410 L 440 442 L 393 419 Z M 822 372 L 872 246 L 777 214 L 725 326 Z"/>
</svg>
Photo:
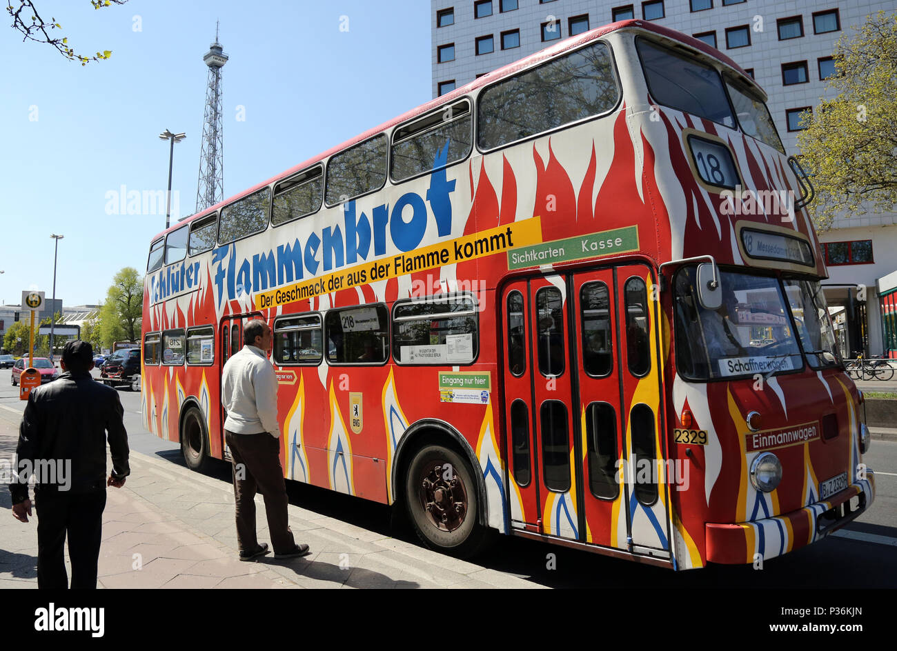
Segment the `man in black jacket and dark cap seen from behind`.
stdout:
<svg viewBox="0 0 897 651">
<path fill-rule="evenodd" d="M 38 587 L 68 586 L 65 534 L 72 587 L 95 588 L 106 486 L 121 488 L 130 473 L 124 410 L 115 389 L 91 378 L 93 348 L 65 344 L 62 369 L 48 385 L 31 390 L 22 417 L 17 481 L 9 486 L 13 516 L 28 522 L 28 479 L 35 475 L 38 514 Z M 106 432 L 112 473 L 106 479 Z"/>
</svg>

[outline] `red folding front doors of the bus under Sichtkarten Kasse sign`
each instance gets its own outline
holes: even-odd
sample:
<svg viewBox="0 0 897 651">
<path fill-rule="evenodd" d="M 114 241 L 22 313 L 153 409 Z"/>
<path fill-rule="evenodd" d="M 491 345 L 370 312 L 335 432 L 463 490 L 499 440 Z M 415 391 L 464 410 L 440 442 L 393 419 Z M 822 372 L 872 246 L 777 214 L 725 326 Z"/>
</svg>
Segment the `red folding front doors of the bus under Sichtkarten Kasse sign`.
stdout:
<svg viewBox="0 0 897 651">
<path fill-rule="evenodd" d="M 668 558 L 651 278 L 628 265 L 503 289 L 513 528 Z"/>
</svg>

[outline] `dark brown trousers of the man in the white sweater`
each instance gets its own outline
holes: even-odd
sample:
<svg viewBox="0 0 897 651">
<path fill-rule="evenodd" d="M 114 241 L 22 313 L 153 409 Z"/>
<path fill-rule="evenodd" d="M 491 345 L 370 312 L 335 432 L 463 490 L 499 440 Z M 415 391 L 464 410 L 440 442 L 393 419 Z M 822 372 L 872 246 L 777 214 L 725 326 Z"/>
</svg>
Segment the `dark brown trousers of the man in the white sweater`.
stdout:
<svg viewBox="0 0 897 651">
<path fill-rule="evenodd" d="M 268 533 L 275 554 L 285 554 L 296 546 L 287 517 L 286 483 L 280 464 L 279 439 L 265 432 L 235 434 L 224 430 L 233 459 L 233 495 L 237 503 L 239 551 L 253 551 L 256 538 L 256 492 L 265 498 Z"/>
</svg>

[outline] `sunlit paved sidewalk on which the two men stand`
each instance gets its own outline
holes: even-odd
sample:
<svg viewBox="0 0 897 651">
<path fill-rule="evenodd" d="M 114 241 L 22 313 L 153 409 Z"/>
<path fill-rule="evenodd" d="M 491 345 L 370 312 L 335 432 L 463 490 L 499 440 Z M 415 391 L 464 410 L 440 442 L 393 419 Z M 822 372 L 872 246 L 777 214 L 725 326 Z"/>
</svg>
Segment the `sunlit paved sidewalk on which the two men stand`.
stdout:
<svg viewBox="0 0 897 651">
<path fill-rule="evenodd" d="M 14 456 L 18 424 L 13 412 L 0 410 L 3 458 Z M 293 534 L 311 554 L 240 561 L 231 485 L 140 453 L 131 454 L 125 487 L 107 495 L 99 587 L 540 587 L 292 505 Z M 270 544 L 261 496 L 256 502 L 258 540 Z M 36 588 L 35 518 L 13 518 L 5 486 L 0 517 L 0 588 Z"/>
</svg>

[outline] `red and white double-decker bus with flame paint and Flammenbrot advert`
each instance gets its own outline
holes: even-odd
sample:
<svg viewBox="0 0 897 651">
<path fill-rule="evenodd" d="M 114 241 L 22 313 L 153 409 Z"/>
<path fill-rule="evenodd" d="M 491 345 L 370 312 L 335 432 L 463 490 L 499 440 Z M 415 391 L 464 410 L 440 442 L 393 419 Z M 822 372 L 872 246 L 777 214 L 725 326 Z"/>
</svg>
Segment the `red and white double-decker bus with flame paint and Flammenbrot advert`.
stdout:
<svg viewBox="0 0 897 651">
<path fill-rule="evenodd" d="M 651 22 L 559 42 L 152 239 L 144 422 L 227 458 L 220 378 L 274 330 L 288 479 L 674 569 L 864 512 L 862 394 L 753 79 Z"/>
</svg>

